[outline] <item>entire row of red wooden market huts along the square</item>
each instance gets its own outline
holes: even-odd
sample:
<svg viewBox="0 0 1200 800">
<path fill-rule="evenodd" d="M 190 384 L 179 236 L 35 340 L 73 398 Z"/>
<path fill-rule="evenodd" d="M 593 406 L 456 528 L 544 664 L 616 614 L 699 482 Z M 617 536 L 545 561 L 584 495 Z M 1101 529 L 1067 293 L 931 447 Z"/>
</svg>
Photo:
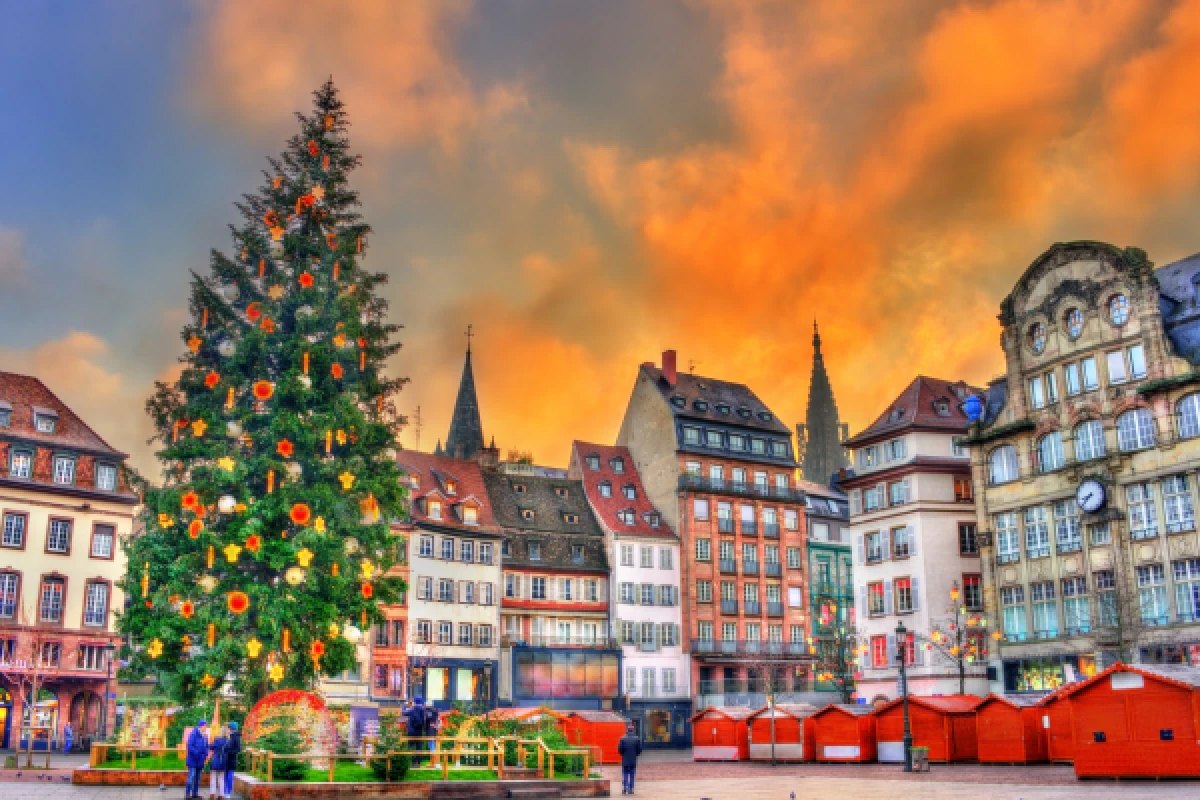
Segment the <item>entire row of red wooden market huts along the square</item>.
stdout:
<svg viewBox="0 0 1200 800">
<path fill-rule="evenodd" d="M 910 697 L 930 762 L 1073 763 L 1079 777 L 1200 777 L 1200 668 L 1117 663 L 1040 699 Z M 904 699 L 876 708 L 710 708 L 696 760 L 904 760 Z"/>
</svg>

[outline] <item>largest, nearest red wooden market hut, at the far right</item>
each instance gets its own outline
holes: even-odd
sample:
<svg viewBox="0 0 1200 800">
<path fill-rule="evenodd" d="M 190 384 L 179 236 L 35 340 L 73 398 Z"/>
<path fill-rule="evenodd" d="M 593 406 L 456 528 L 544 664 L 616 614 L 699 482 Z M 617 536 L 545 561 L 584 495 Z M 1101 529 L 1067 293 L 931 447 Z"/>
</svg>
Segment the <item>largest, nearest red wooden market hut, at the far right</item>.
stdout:
<svg viewBox="0 0 1200 800">
<path fill-rule="evenodd" d="M 1067 692 L 1076 777 L 1200 777 L 1200 668 L 1116 663 Z"/>
</svg>

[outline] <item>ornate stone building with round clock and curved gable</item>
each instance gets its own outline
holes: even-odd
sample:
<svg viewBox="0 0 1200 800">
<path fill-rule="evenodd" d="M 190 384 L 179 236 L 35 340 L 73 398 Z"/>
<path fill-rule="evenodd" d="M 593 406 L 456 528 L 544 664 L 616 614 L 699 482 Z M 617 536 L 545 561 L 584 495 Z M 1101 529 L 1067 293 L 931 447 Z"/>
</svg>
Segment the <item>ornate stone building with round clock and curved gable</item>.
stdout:
<svg viewBox="0 0 1200 800">
<path fill-rule="evenodd" d="M 1200 663 L 1200 259 L 1057 243 L 1001 305 L 972 425 L 992 687 Z"/>
</svg>

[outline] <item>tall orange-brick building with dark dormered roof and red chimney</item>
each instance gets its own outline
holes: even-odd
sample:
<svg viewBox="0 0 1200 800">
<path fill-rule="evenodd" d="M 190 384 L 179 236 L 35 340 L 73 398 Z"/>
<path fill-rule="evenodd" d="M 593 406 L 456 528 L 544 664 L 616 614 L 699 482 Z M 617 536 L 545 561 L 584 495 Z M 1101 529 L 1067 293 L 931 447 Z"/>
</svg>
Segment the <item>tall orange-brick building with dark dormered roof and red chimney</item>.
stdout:
<svg viewBox="0 0 1200 800">
<path fill-rule="evenodd" d="M 617 444 L 680 539 L 697 706 L 809 682 L 804 492 L 788 426 L 745 385 L 643 363 Z"/>
</svg>

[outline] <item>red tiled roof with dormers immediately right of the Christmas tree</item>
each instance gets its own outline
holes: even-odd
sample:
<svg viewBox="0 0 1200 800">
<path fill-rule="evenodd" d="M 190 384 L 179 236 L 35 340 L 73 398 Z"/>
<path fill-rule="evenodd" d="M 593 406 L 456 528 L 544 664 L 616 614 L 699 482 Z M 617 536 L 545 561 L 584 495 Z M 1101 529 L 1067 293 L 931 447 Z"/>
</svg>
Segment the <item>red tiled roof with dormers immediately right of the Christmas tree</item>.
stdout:
<svg viewBox="0 0 1200 800">
<path fill-rule="evenodd" d="M 396 456 L 396 463 L 416 482 L 416 487 L 410 489 L 413 524 L 426 523 L 442 528 L 499 533 L 479 462 L 401 450 Z M 448 483 L 454 485 L 454 494 L 449 492 Z M 444 511 L 440 519 L 426 515 L 428 509 L 426 501 L 431 497 L 443 499 Z M 462 522 L 462 507 L 469 500 L 474 500 L 479 506 L 478 525 Z"/>
</svg>

